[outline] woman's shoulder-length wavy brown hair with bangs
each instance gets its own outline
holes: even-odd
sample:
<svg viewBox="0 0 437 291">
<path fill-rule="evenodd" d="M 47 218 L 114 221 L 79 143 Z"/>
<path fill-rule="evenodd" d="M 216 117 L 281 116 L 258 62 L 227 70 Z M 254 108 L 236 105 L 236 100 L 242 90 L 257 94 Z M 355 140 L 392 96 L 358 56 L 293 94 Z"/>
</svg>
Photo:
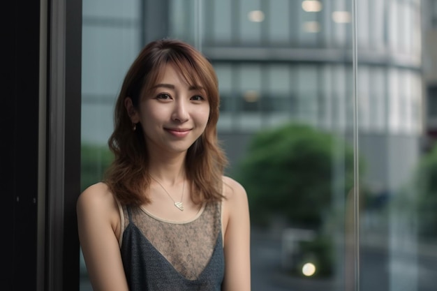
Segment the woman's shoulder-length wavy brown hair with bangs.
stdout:
<svg viewBox="0 0 437 291">
<path fill-rule="evenodd" d="M 175 39 L 161 39 L 146 45 L 133 61 L 121 86 L 114 110 L 114 132 L 108 146 L 114 161 L 105 172 L 105 183 L 122 204 L 149 203 L 149 153 L 141 124 L 133 130 L 124 105 L 132 99 L 138 109 L 140 99 L 163 75 L 167 64 L 175 66 L 186 82 L 205 88 L 209 101 L 209 119 L 202 135 L 188 148 L 185 172 L 191 183 L 193 201 L 208 202 L 223 198 L 222 176 L 228 161 L 219 146 L 218 80 L 209 61 L 194 47 Z"/>
</svg>

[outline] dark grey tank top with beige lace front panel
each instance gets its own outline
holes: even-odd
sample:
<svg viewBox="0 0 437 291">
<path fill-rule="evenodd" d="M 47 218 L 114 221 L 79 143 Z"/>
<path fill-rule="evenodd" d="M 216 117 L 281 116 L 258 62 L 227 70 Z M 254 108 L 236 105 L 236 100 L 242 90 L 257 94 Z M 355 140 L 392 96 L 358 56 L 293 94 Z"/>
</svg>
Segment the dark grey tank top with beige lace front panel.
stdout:
<svg viewBox="0 0 437 291">
<path fill-rule="evenodd" d="M 121 259 L 130 291 L 221 290 L 224 276 L 221 203 L 205 204 L 184 223 L 122 207 Z"/>
</svg>

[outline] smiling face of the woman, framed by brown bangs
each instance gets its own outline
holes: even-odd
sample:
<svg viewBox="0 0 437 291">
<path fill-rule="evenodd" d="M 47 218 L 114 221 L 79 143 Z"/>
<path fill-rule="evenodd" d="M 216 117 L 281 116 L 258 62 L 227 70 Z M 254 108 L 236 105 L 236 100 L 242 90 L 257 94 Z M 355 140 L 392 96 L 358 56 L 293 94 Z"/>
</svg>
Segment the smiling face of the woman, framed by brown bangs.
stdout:
<svg viewBox="0 0 437 291">
<path fill-rule="evenodd" d="M 186 151 L 202 135 L 208 118 L 205 89 L 191 87 L 171 64 L 131 115 L 134 123 L 141 123 L 150 153 Z"/>
</svg>

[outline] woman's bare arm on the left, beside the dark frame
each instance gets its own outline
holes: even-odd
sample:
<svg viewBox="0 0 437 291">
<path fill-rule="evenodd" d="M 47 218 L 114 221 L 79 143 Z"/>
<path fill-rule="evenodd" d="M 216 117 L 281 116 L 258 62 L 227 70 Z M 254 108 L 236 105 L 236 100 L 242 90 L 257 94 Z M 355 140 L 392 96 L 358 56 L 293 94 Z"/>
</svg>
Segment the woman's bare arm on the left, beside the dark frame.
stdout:
<svg viewBox="0 0 437 291">
<path fill-rule="evenodd" d="M 118 236 L 117 202 L 103 183 L 87 188 L 77 200 L 80 245 L 94 291 L 128 291 Z"/>
</svg>

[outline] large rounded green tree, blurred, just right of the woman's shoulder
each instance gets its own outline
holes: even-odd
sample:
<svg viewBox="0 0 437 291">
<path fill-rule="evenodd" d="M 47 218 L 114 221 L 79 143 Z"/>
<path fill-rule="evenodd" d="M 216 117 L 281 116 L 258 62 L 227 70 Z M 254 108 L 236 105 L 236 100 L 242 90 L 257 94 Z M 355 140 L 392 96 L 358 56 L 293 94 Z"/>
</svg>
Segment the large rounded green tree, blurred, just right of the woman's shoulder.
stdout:
<svg viewBox="0 0 437 291">
<path fill-rule="evenodd" d="M 340 181 L 336 163 L 345 172 Z M 345 195 L 353 186 L 353 148 L 332 133 L 286 124 L 254 135 L 236 176 L 249 195 L 252 223 L 268 225 L 279 214 L 294 227 L 319 230 L 334 184 Z"/>
</svg>

